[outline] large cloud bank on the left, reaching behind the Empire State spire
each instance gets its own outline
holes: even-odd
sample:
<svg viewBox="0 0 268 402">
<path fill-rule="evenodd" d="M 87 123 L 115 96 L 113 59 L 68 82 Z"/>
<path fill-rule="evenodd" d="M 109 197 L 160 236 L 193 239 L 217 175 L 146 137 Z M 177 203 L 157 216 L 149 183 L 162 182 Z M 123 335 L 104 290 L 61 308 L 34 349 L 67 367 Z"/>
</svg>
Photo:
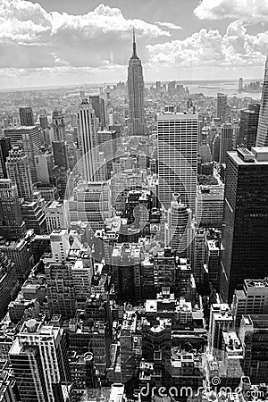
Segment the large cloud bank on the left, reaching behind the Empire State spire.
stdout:
<svg viewBox="0 0 268 402">
<path fill-rule="evenodd" d="M 71 15 L 47 13 L 40 4 L 26 0 L 1 0 L 0 48 L 4 53 L 0 67 L 125 64 L 133 26 L 143 45 L 171 36 L 156 24 L 126 19 L 120 9 L 104 4 L 86 14 Z M 140 49 L 146 61 L 146 47 Z"/>
</svg>

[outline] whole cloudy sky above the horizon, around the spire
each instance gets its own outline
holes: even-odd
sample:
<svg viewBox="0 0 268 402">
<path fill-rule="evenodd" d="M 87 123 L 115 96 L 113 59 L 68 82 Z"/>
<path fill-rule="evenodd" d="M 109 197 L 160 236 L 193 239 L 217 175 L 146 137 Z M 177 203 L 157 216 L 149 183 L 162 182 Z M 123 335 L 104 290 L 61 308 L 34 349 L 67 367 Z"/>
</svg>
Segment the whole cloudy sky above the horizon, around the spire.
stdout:
<svg viewBox="0 0 268 402">
<path fill-rule="evenodd" d="M 268 0 L 0 0 L 0 88 L 262 78 Z"/>
</svg>

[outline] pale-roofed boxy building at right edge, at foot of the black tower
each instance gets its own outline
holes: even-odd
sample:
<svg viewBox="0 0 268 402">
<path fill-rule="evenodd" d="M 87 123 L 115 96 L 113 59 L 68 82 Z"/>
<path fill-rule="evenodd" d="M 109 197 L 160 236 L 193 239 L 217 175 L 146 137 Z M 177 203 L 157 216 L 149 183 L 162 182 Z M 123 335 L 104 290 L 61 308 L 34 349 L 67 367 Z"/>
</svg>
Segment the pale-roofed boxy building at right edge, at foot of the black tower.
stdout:
<svg viewBox="0 0 268 402">
<path fill-rule="evenodd" d="M 268 314 L 268 279 L 245 280 L 243 289 L 235 290 L 233 309 L 236 326 L 247 314 Z"/>
</svg>

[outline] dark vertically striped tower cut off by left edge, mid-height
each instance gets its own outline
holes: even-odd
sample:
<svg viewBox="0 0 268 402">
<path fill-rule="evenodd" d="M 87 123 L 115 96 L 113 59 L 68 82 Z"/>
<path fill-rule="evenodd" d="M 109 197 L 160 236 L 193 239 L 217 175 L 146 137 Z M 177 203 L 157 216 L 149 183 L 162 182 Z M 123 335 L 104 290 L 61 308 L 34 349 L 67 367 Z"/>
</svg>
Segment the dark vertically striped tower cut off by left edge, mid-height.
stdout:
<svg viewBox="0 0 268 402">
<path fill-rule="evenodd" d="M 0 236 L 17 240 L 25 234 L 25 223 L 21 217 L 21 205 L 16 186 L 12 180 L 0 180 Z"/>
</svg>

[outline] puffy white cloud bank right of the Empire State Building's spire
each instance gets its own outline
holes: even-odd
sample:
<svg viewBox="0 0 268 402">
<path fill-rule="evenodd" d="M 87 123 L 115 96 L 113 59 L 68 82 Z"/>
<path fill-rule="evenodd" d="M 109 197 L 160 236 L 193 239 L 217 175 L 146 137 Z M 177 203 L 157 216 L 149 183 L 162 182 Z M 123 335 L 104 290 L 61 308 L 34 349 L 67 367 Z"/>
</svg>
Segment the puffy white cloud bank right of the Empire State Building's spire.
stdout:
<svg viewBox="0 0 268 402">
<path fill-rule="evenodd" d="M 249 35 L 243 21 L 233 21 L 222 35 L 218 29 L 201 29 L 184 40 L 148 45 L 152 63 L 178 66 L 264 65 L 268 31 Z"/>
</svg>

